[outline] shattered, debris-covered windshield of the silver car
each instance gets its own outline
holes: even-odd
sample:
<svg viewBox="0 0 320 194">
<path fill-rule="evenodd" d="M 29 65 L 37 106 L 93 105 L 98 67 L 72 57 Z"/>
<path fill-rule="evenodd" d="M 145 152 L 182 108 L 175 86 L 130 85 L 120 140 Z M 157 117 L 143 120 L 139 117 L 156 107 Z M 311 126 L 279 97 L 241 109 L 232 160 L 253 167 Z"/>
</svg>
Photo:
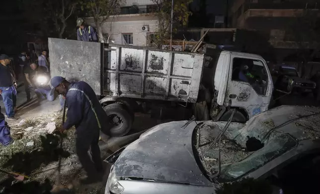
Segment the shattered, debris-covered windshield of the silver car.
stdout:
<svg viewBox="0 0 320 194">
<path fill-rule="evenodd" d="M 259 139 L 264 137 L 262 134 L 261 136 L 249 137 L 250 140 L 253 140 L 253 144 L 249 145 L 251 143 L 248 141 L 247 134 L 239 133 L 243 126 L 233 125 L 221 139 L 220 182 L 235 181 L 297 145 L 296 140 L 290 135 L 278 131 L 272 131 L 271 133 L 265 131 L 268 134 L 267 138 L 261 142 Z M 198 156 L 208 175 L 213 175 L 219 171 L 219 144 L 217 143 L 208 150 L 210 145 L 208 142 L 212 142 L 222 128 L 223 125 L 210 128 L 203 127 L 200 129 L 200 133 L 199 131 L 197 133 Z M 258 150 L 250 151 L 251 148 L 248 148 L 248 146 L 256 146 Z"/>
</svg>

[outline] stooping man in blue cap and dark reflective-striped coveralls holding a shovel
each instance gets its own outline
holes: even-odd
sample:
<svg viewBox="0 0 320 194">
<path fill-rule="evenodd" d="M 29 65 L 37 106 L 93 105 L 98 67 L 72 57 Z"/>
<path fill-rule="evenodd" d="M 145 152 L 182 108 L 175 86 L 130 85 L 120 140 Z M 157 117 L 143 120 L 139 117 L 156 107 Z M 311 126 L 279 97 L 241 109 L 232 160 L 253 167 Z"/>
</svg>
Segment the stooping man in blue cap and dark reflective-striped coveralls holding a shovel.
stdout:
<svg viewBox="0 0 320 194">
<path fill-rule="evenodd" d="M 102 162 L 98 146 L 99 133 L 108 134 L 109 119 L 101 107 L 92 88 L 86 82 L 70 83 L 63 77 L 53 77 L 50 82 L 51 94 L 63 95 L 68 106 L 64 130 L 76 127 L 76 152 L 86 176 L 80 181 L 90 184 L 101 181 Z M 90 149 L 90 156 L 88 151 Z"/>
</svg>

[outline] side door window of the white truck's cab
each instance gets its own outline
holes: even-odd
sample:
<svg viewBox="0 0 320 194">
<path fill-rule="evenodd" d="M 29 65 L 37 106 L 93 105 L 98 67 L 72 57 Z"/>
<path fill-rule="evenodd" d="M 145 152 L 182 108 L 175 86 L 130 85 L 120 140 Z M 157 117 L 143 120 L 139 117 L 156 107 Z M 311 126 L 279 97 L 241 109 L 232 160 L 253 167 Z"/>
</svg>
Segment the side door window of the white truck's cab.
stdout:
<svg viewBox="0 0 320 194">
<path fill-rule="evenodd" d="M 268 74 L 260 60 L 235 57 L 233 59 L 232 80 L 249 83 L 258 95 L 264 96 L 266 94 Z"/>
</svg>

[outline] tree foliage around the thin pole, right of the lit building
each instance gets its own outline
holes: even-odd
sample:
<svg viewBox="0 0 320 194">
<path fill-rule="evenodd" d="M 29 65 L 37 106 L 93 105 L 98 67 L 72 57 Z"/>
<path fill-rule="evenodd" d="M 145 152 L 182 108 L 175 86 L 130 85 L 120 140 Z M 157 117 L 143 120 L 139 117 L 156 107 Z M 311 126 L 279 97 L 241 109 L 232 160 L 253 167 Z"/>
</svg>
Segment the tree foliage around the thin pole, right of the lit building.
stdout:
<svg viewBox="0 0 320 194">
<path fill-rule="evenodd" d="M 152 0 L 156 4 L 155 14 L 158 17 L 158 29 L 156 31 L 156 45 L 160 47 L 163 40 L 168 39 L 170 36 L 171 24 L 171 0 Z M 173 20 L 172 20 L 172 33 L 177 31 L 180 26 L 188 24 L 188 18 L 191 11 L 188 9 L 189 3 L 193 0 L 174 0 L 173 1 Z"/>
</svg>

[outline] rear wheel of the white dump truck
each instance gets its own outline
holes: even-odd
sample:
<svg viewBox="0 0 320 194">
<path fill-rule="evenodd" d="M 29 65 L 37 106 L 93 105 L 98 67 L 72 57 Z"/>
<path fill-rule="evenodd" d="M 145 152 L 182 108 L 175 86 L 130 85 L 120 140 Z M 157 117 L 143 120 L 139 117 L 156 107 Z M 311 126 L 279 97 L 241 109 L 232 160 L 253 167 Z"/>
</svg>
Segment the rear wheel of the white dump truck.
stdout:
<svg viewBox="0 0 320 194">
<path fill-rule="evenodd" d="M 130 131 L 132 116 L 123 104 L 113 103 L 106 105 L 103 109 L 114 125 L 110 129 L 112 137 L 122 137 Z"/>
</svg>

